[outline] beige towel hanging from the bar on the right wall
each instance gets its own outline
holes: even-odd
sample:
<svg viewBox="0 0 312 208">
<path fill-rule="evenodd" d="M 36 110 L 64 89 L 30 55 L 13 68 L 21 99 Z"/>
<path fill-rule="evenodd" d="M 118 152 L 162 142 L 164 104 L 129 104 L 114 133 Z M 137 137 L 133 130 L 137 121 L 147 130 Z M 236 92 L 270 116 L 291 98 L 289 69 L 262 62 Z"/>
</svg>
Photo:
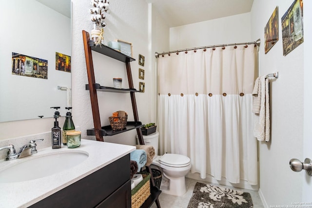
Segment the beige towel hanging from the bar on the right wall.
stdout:
<svg viewBox="0 0 312 208">
<path fill-rule="evenodd" d="M 269 79 L 266 79 L 265 76 L 260 76 L 257 79 L 255 81 L 253 91 L 254 95 L 253 113 L 255 113 L 254 137 L 256 137 L 257 140 L 259 141 L 269 141 L 270 140 Z"/>
</svg>

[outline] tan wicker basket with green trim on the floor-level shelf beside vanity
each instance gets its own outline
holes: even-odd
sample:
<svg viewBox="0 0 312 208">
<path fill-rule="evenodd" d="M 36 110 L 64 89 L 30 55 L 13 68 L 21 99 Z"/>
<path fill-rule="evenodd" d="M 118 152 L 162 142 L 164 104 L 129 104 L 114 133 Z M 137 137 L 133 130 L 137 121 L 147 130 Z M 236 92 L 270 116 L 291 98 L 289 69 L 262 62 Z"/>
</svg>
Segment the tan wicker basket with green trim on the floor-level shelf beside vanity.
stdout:
<svg viewBox="0 0 312 208">
<path fill-rule="evenodd" d="M 145 200 L 151 195 L 149 173 L 139 172 L 143 180 L 131 190 L 131 208 L 140 208 Z"/>
</svg>

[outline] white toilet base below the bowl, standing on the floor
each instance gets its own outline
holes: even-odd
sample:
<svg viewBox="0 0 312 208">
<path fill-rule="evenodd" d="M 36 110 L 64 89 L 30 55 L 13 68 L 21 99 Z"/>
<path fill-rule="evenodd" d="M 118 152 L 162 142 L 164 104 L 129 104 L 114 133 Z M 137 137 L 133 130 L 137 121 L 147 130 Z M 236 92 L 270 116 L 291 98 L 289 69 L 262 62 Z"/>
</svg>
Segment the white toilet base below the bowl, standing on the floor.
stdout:
<svg viewBox="0 0 312 208">
<path fill-rule="evenodd" d="M 182 196 L 186 193 L 185 176 L 173 178 L 163 172 L 160 190 L 165 194 Z"/>
</svg>

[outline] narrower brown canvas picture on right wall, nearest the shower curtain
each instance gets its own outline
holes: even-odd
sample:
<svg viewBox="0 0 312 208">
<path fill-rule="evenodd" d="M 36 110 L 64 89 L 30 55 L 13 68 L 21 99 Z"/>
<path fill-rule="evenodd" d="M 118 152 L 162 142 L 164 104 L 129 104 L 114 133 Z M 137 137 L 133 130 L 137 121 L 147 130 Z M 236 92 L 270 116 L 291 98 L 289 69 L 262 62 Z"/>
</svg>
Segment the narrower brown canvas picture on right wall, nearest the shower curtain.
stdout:
<svg viewBox="0 0 312 208">
<path fill-rule="evenodd" d="M 273 45 L 278 41 L 278 7 L 273 11 L 271 18 L 264 28 L 264 51 L 267 54 Z"/>
</svg>

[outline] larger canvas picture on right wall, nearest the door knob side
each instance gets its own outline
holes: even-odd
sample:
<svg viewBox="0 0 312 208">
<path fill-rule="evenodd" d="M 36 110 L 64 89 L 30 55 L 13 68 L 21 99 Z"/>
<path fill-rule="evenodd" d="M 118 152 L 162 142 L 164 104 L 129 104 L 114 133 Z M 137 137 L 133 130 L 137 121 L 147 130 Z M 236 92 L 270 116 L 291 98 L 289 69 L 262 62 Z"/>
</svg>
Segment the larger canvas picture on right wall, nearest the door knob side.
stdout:
<svg viewBox="0 0 312 208">
<path fill-rule="evenodd" d="M 303 43 L 303 0 L 294 0 L 282 17 L 283 55 Z"/>
</svg>

